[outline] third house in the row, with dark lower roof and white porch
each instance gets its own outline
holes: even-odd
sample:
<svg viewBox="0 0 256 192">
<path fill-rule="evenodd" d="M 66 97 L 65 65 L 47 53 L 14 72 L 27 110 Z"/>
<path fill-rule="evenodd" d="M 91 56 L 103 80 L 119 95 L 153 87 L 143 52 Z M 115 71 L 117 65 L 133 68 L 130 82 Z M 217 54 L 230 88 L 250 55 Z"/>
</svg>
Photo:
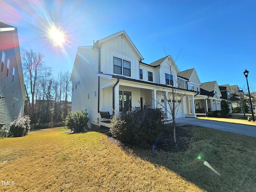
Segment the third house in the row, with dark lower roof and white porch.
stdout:
<svg viewBox="0 0 256 192">
<path fill-rule="evenodd" d="M 206 101 L 207 112 L 221 110 L 221 92 L 217 81 L 202 83 L 200 86 L 200 94 L 208 98 Z"/>
</svg>

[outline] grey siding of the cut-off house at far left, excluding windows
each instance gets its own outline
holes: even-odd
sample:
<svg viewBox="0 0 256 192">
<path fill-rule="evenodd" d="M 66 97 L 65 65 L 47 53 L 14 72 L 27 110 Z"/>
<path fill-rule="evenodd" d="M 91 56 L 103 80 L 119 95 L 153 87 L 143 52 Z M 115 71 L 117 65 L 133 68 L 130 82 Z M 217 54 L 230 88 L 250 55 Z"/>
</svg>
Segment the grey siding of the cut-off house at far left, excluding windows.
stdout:
<svg viewBox="0 0 256 192">
<path fill-rule="evenodd" d="M 17 34 L 15 34 L 16 32 L 16 30 L 0 32 L 0 62 L 2 62 L 2 53 L 5 53 L 4 70 L 3 72 L 0 70 L 0 96 L 4 97 L 0 98 L 0 123 L 5 124 L 3 128 L 6 129 L 10 128 L 10 122 L 16 118 L 22 117 L 24 112 L 24 100 L 17 67 L 17 65 L 21 65 L 21 63 L 19 62 L 17 64 L 17 53 L 14 50 L 14 39 L 12 38 L 12 35 L 17 36 Z M 18 54 L 20 54 L 20 52 L 18 52 Z M 20 57 L 20 55 L 18 57 Z M 8 59 L 10 60 L 10 64 L 7 77 Z M 12 82 L 13 70 L 14 82 Z M 22 82 L 22 84 L 24 84 L 24 82 Z"/>
</svg>

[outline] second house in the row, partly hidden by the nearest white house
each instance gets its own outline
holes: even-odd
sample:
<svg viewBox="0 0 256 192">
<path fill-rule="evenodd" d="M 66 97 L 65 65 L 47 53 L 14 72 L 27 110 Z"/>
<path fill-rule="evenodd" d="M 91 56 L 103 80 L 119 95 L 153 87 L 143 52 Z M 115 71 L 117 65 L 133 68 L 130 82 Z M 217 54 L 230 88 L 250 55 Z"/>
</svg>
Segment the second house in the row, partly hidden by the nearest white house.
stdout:
<svg viewBox="0 0 256 192">
<path fill-rule="evenodd" d="M 202 95 L 200 92 L 201 82 L 195 68 L 180 72 L 178 77 L 186 80 L 183 84 L 180 83 L 180 87 L 197 92 L 197 94 L 194 96 L 194 108 L 196 115 L 206 116 L 208 109 L 208 96 Z"/>
</svg>

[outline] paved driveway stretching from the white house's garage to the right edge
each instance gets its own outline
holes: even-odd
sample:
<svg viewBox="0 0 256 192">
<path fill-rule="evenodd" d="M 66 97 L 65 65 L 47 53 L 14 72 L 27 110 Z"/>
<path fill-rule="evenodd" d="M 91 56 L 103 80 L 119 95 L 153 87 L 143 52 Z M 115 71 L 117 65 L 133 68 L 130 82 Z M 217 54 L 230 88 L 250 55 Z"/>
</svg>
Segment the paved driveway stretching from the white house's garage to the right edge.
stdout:
<svg viewBox="0 0 256 192">
<path fill-rule="evenodd" d="M 178 124 L 178 126 L 190 124 L 190 125 L 197 125 L 197 126 L 208 127 L 208 128 L 256 137 L 256 126 L 251 126 L 251 125 L 226 123 L 226 122 L 204 120 L 204 119 L 198 119 L 198 118 L 188 118 L 188 117 L 177 118 L 175 119 L 175 121 Z"/>
</svg>

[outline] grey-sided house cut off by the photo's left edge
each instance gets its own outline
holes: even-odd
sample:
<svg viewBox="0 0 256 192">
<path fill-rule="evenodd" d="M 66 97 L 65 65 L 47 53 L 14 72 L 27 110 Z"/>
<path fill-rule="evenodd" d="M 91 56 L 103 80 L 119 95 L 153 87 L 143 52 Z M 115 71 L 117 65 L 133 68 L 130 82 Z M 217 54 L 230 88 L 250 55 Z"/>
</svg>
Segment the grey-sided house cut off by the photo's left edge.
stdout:
<svg viewBox="0 0 256 192">
<path fill-rule="evenodd" d="M 17 28 L 0 22 L 0 123 L 22 117 L 26 100 Z"/>
</svg>

